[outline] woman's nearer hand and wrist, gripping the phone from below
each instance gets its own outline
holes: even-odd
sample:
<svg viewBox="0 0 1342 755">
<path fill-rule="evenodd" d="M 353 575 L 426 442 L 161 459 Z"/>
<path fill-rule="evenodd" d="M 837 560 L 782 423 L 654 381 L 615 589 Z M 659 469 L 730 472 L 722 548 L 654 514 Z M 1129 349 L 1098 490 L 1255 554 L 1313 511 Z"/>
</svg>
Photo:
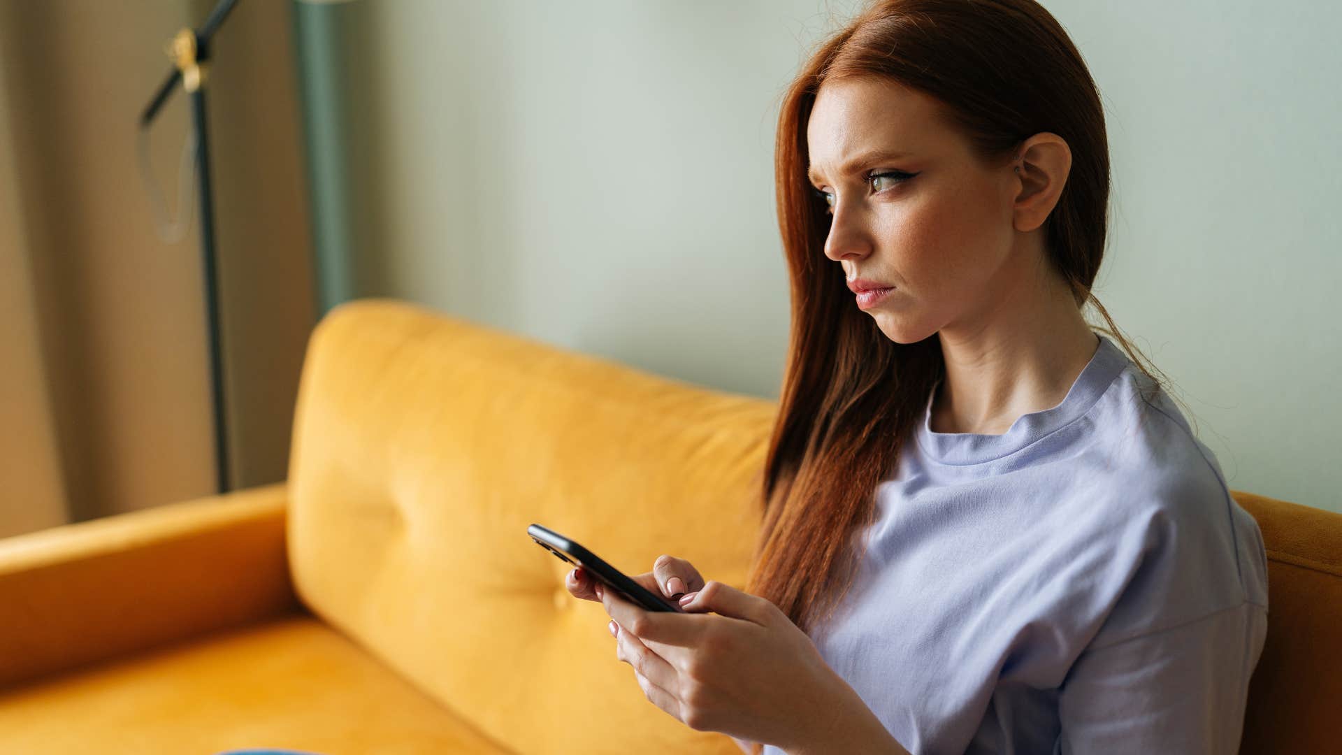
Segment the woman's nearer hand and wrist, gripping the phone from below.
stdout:
<svg viewBox="0 0 1342 755">
<path fill-rule="evenodd" d="M 845 697 L 811 638 L 772 602 L 729 584 L 710 580 L 691 595 L 688 613 L 674 614 L 600 591 L 616 657 L 648 700 L 696 731 L 784 750 L 823 738 Z"/>
</svg>

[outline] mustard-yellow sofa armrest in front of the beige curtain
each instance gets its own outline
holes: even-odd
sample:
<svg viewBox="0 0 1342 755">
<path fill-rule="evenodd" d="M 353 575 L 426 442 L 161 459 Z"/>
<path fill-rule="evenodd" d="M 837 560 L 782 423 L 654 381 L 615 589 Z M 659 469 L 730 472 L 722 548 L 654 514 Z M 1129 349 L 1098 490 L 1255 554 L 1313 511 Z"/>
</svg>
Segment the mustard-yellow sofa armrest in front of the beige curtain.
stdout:
<svg viewBox="0 0 1342 755">
<path fill-rule="evenodd" d="M 299 607 L 286 484 L 0 540 L 0 686 Z"/>
</svg>

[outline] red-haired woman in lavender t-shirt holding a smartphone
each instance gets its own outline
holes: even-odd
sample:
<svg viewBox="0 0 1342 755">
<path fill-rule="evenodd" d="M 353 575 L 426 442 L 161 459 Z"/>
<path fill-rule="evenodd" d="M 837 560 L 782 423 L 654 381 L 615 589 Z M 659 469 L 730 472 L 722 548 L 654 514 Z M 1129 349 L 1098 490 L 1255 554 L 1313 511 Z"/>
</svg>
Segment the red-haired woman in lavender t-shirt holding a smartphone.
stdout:
<svg viewBox="0 0 1342 755">
<path fill-rule="evenodd" d="M 1133 352 L 1091 294 L 1108 153 L 1063 28 L 875 3 L 789 89 L 776 168 L 793 322 L 747 591 L 663 556 L 639 579 L 690 614 L 659 614 L 569 575 L 647 697 L 754 752 L 1235 752 L 1263 541 L 1100 335 Z"/>
</svg>

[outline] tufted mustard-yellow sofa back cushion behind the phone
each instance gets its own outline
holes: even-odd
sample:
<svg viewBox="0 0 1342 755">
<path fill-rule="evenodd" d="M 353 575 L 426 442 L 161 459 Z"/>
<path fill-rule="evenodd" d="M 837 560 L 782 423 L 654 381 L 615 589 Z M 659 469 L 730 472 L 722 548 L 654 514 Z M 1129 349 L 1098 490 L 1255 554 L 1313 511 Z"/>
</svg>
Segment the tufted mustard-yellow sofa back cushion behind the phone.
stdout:
<svg viewBox="0 0 1342 755">
<path fill-rule="evenodd" d="M 333 309 L 290 455 L 303 603 L 515 752 L 723 752 L 650 703 L 599 603 L 531 541 L 743 588 L 776 406 L 408 304 Z"/>
</svg>

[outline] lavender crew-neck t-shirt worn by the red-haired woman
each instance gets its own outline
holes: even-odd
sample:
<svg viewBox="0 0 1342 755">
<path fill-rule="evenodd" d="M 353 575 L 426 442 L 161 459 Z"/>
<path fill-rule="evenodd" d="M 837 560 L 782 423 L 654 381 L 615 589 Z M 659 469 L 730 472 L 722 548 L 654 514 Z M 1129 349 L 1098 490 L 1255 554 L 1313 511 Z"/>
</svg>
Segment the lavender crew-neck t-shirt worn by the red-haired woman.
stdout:
<svg viewBox="0 0 1342 755">
<path fill-rule="evenodd" d="M 931 431 L 929 395 L 812 631 L 914 755 L 1239 748 L 1263 536 L 1169 396 L 1145 400 L 1098 339 L 1067 398 L 1002 435 Z"/>
</svg>

